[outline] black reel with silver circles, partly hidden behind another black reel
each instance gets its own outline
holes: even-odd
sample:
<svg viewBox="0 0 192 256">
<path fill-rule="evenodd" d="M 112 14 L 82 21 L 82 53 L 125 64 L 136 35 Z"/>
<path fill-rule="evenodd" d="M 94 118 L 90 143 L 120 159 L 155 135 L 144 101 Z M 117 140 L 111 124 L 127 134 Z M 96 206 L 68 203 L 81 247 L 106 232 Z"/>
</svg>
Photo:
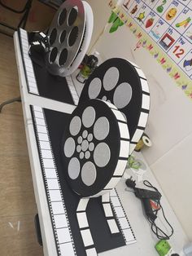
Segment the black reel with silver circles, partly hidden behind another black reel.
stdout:
<svg viewBox="0 0 192 256">
<path fill-rule="evenodd" d="M 146 128 L 150 93 L 146 77 L 136 64 L 114 58 L 105 61 L 85 82 L 80 104 L 87 99 L 111 102 L 129 121 L 131 154 Z"/>
</svg>

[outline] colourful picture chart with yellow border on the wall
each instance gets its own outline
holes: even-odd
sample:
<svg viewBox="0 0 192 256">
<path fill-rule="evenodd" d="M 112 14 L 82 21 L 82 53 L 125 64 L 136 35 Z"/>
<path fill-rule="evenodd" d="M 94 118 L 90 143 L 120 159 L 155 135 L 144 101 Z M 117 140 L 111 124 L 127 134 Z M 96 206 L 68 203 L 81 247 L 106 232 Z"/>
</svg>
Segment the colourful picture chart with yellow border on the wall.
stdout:
<svg viewBox="0 0 192 256">
<path fill-rule="evenodd" d="M 192 0 L 111 0 L 109 6 L 119 26 L 138 38 L 135 51 L 146 48 L 192 99 Z"/>
</svg>

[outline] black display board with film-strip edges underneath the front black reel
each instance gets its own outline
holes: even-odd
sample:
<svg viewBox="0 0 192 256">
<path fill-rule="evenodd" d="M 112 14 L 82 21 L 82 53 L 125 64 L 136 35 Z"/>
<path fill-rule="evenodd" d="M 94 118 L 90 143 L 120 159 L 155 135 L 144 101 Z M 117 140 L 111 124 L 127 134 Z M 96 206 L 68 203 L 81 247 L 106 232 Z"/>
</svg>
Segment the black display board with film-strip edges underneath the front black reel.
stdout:
<svg viewBox="0 0 192 256">
<path fill-rule="evenodd" d="M 41 170 L 39 171 L 42 173 L 45 185 L 58 255 L 95 255 L 87 253 L 90 246 L 85 246 L 84 241 L 88 241 L 89 236 L 81 235 L 82 229 L 80 229 L 76 218 L 76 209 L 81 196 L 73 192 L 68 185 L 65 176 L 67 166 L 62 163 L 61 139 L 71 114 L 65 113 L 64 109 L 63 112 L 58 112 L 35 105 L 31 105 L 30 108 L 39 161 L 41 162 Z M 115 236 L 111 235 L 107 226 L 101 196 L 91 198 L 86 211 L 91 230 L 91 240 L 94 241 L 98 253 L 136 242 L 116 189 L 110 192 L 109 204 L 114 216 L 116 216 L 120 230 L 120 233 Z M 103 243 L 103 241 L 105 242 Z"/>
</svg>

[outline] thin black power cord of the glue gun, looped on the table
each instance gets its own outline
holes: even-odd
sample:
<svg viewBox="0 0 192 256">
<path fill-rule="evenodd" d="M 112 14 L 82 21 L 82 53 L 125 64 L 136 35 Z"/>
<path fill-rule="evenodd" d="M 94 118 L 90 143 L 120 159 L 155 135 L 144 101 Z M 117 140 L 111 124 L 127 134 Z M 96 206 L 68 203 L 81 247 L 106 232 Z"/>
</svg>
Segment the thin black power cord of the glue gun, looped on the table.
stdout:
<svg viewBox="0 0 192 256">
<path fill-rule="evenodd" d="M 157 188 L 155 188 L 148 180 L 144 180 L 143 184 L 146 187 L 153 188 L 156 192 L 159 192 L 159 190 Z M 168 240 L 173 235 L 174 229 L 173 229 L 172 225 L 168 222 L 168 219 L 165 217 L 164 208 L 161 205 L 160 200 L 156 201 L 156 203 L 157 203 L 157 205 L 159 205 L 159 208 L 157 210 L 154 210 L 154 213 L 157 216 L 159 211 L 160 210 L 162 211 L 165 222 L 168 223 L 168 226 L 171 228 L 171 234 L 170 235 L 166 234 L 160 227 L 158 227 L 156 225 L 155 220 L 151 220 L 151 218 L 147 218 L 147 219 L 148 219 L 149 223 L 151 223 L 151 230 L 155 234 L 155 236 L 157 236 L 157 238 L 159 240 L 162 240 L 162 239 Z"/>
</svg>

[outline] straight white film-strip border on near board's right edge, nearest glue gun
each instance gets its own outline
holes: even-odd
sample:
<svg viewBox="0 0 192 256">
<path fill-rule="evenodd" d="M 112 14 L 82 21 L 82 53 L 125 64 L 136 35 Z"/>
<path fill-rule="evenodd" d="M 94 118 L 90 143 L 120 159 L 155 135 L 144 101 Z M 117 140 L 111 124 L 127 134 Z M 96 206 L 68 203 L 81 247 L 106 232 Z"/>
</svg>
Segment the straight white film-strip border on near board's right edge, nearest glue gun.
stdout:
<svg viewBox="0 0 192 256">
<path fill-rule="evenodd" d="M 136 237 L 129 223 L 129 219 L 125 214 L 123 205 L 121 204 L 121 201 L 120 201 L 120 197 L 116 192 L 116 188 L 114 188 L 110 192 L 110 201 L 111 201 L 112 209 L 116 214 L 116 220 L 120 225 L 120 230 L 124 236 L 124 241 L 126 245 L 131 245 L 133 243 L 136 243 L 137 242 Z"/>
</svg>

